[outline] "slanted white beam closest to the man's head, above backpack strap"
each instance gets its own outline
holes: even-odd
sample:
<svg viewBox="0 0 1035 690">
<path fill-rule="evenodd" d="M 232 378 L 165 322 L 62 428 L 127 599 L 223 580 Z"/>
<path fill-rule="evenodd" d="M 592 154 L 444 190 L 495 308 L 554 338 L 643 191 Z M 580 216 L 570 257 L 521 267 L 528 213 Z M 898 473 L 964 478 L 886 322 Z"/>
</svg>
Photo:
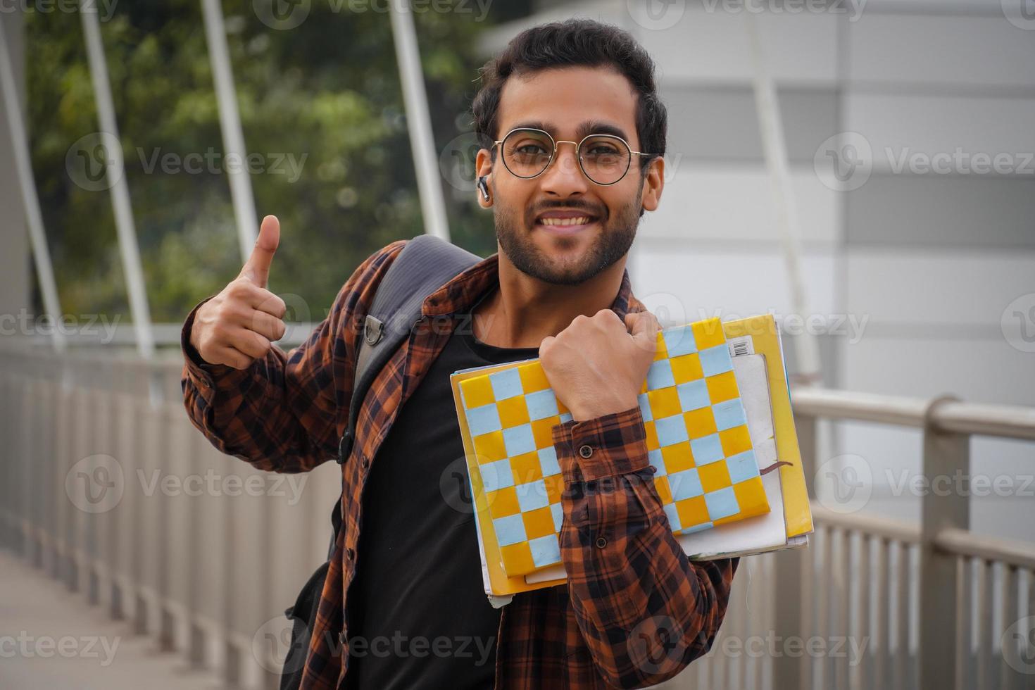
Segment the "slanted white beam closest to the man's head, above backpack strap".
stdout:
<svg viewBox="0 0 1035 690">
<path fill-rule="evenodd" d="M 417 32 L 413 26 L 410 0 L 391 0 L 391 31 L 395 41 L 395 58 L 406 103 L 406 124 L 410 131 L 410 149 L 417 172 L 420 211 L 424 216 L 424 232 L 449 241 L 449 222 L 442 200 L 432 120 L 427 112 L 427 92 L 420 68 Z"/>
</svg>

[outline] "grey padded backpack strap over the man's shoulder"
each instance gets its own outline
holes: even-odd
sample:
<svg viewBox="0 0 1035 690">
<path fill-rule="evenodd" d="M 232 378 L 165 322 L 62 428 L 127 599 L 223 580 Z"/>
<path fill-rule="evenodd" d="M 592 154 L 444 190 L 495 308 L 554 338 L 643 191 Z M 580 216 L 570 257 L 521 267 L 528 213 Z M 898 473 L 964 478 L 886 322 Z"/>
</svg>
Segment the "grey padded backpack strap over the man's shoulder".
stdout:
<svg viewBox="0 0 1035 690">
<path fill-rule="evenodd" d="M 352 453 L 356 421 L 366 392 L 420 319 L 424 299 L 480 261 L 482 260 L 477 254 L 434 235 L 418 235 L 403 246 L 388 267 L 378 284 L 374 303 L 363 325 L 363 338 L 359 343 L 352 401 L 349 406 L 349 425 L 338 442 L 338 463 L 345 463 Z M 337 506 L 331 521 L 334 524 L 330 545 L 333 550 L 342 522 Z"/>
</svg>

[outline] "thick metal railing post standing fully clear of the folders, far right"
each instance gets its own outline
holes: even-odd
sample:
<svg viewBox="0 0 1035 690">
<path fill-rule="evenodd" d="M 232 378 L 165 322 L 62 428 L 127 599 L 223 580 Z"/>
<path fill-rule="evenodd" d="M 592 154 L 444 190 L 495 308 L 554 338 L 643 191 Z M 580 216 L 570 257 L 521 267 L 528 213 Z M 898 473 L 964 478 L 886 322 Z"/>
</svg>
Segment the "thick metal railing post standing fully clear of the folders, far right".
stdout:
<svg viewBox="0 0 1035 690">
<path fill-rule="evenodd" d="M 917 687 L 955 686 L 955 639 L 959 626 L 955 558 L 935 548 L 946 528 L 970 528 L 970 436 L 939 430 L 938 409 L 957 398 L 942 396 L 927 406 L 923 422 L 925 492 L 920 509 L 920 635 Z M 958 481 L 958 483 L 957 483 Z"/>
</svg>

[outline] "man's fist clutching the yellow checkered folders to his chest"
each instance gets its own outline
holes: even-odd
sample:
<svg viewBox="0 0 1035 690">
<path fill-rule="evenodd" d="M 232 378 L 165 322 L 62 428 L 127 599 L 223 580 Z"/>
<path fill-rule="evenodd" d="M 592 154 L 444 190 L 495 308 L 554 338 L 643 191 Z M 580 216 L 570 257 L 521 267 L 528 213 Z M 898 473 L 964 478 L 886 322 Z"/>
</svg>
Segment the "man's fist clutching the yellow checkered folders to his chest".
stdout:
<svg viewBox="0 0 1035 690">
<path fill-rule="evenodd" d="M 539 363 L 557 397 L 576 421 L 634 408 L 657 351 L 657 318 L 611 309 L 579 314 L 539 343 Z"/>
</svg>

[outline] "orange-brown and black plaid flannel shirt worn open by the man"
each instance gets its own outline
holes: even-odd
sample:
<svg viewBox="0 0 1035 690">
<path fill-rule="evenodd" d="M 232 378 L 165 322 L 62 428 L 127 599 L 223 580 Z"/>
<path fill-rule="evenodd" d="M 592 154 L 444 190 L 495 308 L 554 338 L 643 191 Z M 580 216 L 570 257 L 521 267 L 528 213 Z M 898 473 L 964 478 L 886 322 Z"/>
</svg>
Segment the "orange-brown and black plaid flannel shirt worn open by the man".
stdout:
<svg viewBox="0 0 1035 690">
<path fill-rule="evenodd" d="M 329 316 L 300 346 L 273 347 L 244 369 L 203 362 L 182 331 L 183 400 L 194 424 L 220 451 L 273 472 L 306 472 L 335 457 L 348 424 L 359 337 L 374 292 L 406 244 L 367 258 L 338 292 Z M 395 414 L 443 350 L 455 312 L 498 284 L 498 254 L 430 295 L 409 339 L 375 380 L 342 467 L 338 532 L 313 627 L 301 687 L 338 688 L 348 668 L 343 630 L 356 567 L 362 477 Z M 204 303 L 203 300 L 202 303 Z M 628 271 L 611 307 L 644 306 Z M 434 323 L 434 327 L 431 327 Z M 689 562 L 650 481 L 639 407 L 553 427 L 565 479 L 560 535 L 567 583 L 518 594 L 504 606 L 496 687 L 619 688 L 660 683 L 705 654 L 726 614 L 738 559 Z M 592 452 L 582 450 L 589 446 Z M 585 455 L 589 455 L 585 457 Z M 344 663 L 343 663 L 344 660 Z"/>
</svg>

